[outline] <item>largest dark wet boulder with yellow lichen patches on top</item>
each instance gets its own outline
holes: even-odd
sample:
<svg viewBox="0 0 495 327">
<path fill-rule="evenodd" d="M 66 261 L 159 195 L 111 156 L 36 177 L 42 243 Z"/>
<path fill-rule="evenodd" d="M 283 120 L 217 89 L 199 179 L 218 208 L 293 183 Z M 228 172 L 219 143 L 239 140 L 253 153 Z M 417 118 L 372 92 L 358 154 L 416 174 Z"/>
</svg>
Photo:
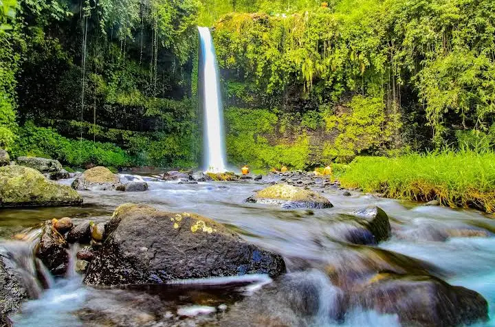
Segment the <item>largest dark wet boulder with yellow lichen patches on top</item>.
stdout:
<svg viewBox="0 0 495 327">
<path fill-rule="evenodd" d="M 161 284 L 168 280 L 285 272 L 281 256 L 250 245 L 197 214 L 118 207 L 88 268 L 87 284 Z"/>
</svg>

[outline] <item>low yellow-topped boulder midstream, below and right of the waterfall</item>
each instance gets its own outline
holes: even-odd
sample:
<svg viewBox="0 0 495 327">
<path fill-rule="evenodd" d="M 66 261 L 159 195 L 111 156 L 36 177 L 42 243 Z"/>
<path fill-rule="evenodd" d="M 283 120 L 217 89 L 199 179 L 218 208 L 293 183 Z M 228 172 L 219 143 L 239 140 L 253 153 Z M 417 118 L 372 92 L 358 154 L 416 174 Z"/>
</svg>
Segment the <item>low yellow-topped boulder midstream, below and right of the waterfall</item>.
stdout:
<svg viewBox="0 0 495 327">
<path fill-rule="evenodd" d="M 250 196 L 246 202 L 282 205 L 286 209 L 322 209 L 333 206 L 327 198 L 317 192 L 287 184 L 275 184 L 265 188 Z"/>
</svg>

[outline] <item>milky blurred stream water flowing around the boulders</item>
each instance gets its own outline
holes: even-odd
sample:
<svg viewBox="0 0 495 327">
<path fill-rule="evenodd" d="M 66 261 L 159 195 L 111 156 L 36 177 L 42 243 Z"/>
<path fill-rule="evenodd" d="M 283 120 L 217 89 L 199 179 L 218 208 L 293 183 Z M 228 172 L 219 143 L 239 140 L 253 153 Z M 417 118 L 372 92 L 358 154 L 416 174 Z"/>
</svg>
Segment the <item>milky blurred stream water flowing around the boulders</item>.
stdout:
<svg viewBox="0 0 495 327">
<path fill-rule="evenodd" d="M 36 234 L 40 223 L 62 216 L 71 217 L 75 223 L 83 219 L 105 222 L 122 203 L 146 203 L 161 210 L 196 212 L 213 218 L 245 240 L 281 253 L 289 272 L 274 281 L 254 275 L 124 289 L 85 286 L 80 276 L 70 274 L 54 280 L 50 289 L 39 291 L 37 300 L 25 302 L 12 317 L 14 326 L 253 326 L 248 321 L 264 316 L 271 322 L 282 319 L 285 324 L 255 326 L 399 326 L 397 316 L 364 311 L 359 306 L 336 319 L 341 291 L 316 263 L 344 269 L 356 264 L 364 267 L 378 257 L 384 258 L 388 251 L 410 256 L 410 264 L 415 264 L 412 258 L 424 260 L 450 284 L 478 291 L 489 302 L 490 314 L 494 314 L 495 221 L 480 212 L 426 207 L 366 194 L 342 196 L 337 189 L 323 193 L 333 208 L 283 210 L 244 202 L 264 187 L 259 183 L 180 185 L 151 177 L 125 178 L 144 179 L 150 190 L 81 192 L 85 199 L 82 207 L 0 210 L 0 237 L 9 239 L 19 232 Z M 338 240 L 331 229 L 333 217 L 365 205 L 378 205 L 388 214 L 391 240 L 378 247 Z M 447 229 L 474 229 L 483 237 L 438 240 L 437 234 Z M 296 296 L 294 299 L 298 295 L 293 292 L 305 285 L 316 311 L 307 317 L 304 312 L 289 310 L 280 293 L 263 293 L 274 283 L 285 287 L 285 297 Z M 495 324 L 489 321 L 477 326 Z"/>
</svg>

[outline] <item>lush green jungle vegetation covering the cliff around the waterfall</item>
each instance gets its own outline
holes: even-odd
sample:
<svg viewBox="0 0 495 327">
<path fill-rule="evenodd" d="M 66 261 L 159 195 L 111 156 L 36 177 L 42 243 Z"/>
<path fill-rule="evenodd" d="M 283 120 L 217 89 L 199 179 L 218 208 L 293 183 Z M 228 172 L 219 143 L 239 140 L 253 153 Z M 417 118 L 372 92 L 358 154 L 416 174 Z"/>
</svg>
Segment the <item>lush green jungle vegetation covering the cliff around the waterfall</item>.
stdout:
<svg viewBox="0 0 495 327">
<path fill-rule="evenodd" d="M 1 0 L 0 9 L 0 147 L 12 157 L 198 166 L 197 25 L 212 27 L 232 165 L 312 169 L 493 148 L 494 1 Z"/>
</svg>

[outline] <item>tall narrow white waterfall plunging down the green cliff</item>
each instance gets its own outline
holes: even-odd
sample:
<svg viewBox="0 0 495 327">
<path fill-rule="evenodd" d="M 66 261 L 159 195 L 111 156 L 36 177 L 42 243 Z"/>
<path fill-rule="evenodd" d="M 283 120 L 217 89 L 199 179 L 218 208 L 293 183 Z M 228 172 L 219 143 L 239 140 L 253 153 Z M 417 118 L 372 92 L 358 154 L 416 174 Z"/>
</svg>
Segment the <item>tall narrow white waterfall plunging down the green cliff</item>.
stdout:
<svg viewBox="0 0 495 327">
<path fill-rule="evenodd" d="M 208 27 L 199 30 L 199 83 L 203 95 L 204 161 L 208 172 L 225 172 L 225 135 L 217 54 Z"/>
</svg>

